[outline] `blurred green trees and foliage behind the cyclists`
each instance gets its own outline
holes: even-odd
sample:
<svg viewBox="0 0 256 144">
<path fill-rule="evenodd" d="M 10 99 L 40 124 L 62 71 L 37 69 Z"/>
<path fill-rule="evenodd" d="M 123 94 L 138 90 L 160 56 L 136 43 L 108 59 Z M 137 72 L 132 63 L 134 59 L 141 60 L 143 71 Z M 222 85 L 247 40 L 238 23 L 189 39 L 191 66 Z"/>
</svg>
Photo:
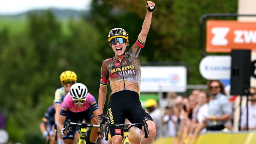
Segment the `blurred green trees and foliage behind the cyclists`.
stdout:
<svg viewBox="0 0 256 144">
<path fill-rule="evenodd" d="M 236 13 L 237 1 L 155 0 L 142 62 L 186 62 L 188 84 L 205 84 L 198 67 L 199 20 L 206 13 Z M 100 67 L 113 57 L 110 29 L 122 27 L 130 46 L 147 12 L 144 0 L 93 0 L 89 14 L 60 20 L 50 11 L 0 24 L 0 110 L 14 142 L 43 143 L 39 124 L 61 87 L 59 75 L 72 70 L 98 99 Z M 110 90 L 108 90 L 110 92 Z M 106 106 L 106 105 L 105 105 Z"/>
</svg>

